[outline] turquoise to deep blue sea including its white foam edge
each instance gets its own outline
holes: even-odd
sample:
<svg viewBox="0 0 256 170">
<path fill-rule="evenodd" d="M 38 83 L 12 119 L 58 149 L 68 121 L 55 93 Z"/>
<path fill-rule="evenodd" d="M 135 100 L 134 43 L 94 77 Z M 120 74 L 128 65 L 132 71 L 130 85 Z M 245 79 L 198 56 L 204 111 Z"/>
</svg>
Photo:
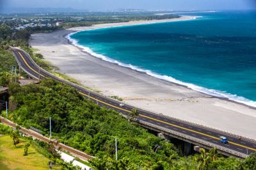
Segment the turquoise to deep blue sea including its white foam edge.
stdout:
<svg viewBox="0 0 256 170">
<path fill-rule="evenodd" d="M 70 40 L 106 61 L 256 107 L 256 12 L 180 15 L 202 17 L 81 31 Z"/>
</svg>

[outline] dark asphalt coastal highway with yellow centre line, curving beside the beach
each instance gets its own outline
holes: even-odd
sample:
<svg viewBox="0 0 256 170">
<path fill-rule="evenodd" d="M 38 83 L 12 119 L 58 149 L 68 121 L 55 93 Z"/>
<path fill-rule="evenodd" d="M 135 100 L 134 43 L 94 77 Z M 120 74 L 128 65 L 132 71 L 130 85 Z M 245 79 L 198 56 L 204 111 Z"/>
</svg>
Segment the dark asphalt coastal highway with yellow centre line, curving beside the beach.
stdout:
<svg viewBox="0 0 256 170">
<path fill-rule="evenodd" d="M 13 55 L 17 59 L 20 68 L 29 76 L 35 79 L 55 79 L 56 81 L 69 84 L 85 98 L 92 100 L 93 102 L 99 104 L 100 106 L 113 109 L 123 114 L 123 116 L 128 116 L 134 107 L 130 105 L 120 105 L 121 103 L 108 97 L 104 97 L 98 93 L 90 91 L 89 89 L 73 84 L 72 82 L 65 81 L 52 75 L 51 73 L 43 70 L 40 66 L 31 59 L 29 54 L 24 50 L 12 49 Z M 138 109 L 140 115 L 136 118 L 138 123 L 147 123 L 147 125 L 152 127 L 159 127 L 161 131 L 166 130 L 173 132 L 182 136 L 183 138 L 193 141 L 200 141 L 200 143 L 206 146 L 214 146 L 218 150 L 223 151 L 223 153 L 230 153 L 230 155 L 235 155 L 237 157 L 246 157 L 251 153 L 256 151 L 256 141 L 252 139 L 246 139 L 242 137 L 239 139 L 237 135 L 230 134 L 227 132 L 222 132 L 220 130 L 214 130 L 212 128 L 203 127 L 200 125 L 195 125 L 193 123 L 177 120 L 175 118 L 169 118 L 161 114 L 155 114 L 153 112 L 145 111 L 143 109 Z M 221 118 L 220 118 L 221 119 Z M 225 136 L 228 139 L 228 144 L 220 143 L 220 136 Z M 188 140 L 187 140 L 188 141 Z"/>
</svg>

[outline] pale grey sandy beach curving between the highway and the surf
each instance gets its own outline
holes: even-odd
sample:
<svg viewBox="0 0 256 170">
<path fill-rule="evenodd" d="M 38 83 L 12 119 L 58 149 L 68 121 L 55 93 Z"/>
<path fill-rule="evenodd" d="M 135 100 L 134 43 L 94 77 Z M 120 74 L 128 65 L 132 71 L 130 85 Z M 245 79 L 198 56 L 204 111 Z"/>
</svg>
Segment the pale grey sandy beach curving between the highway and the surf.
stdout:
<svg viewBox="0 0 256 170">
<path fill-rule="evenodd" d="M 127 104 L 256 139 L 256 109 L 102 61 L 70 44 L 65 38 L 68 33 L 86 29 L 191 19 L 195 17 L 75 27 L 32 35 L 30 44 L 47 61 L 60 68 L 58 72 L 103 95 L 118 96 Z"/>
</svg>

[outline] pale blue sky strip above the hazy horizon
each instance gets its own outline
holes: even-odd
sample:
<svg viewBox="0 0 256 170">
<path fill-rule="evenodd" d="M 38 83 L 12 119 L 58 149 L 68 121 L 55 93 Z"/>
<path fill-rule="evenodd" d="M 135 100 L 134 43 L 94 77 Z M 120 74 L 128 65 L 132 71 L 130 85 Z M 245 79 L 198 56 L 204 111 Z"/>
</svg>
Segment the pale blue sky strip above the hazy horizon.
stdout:
<svg viewBox="0 0 256 170">
<path fill-rule="evenodd" d="M 256 0 L 0 0 L 0 8 L 74 8 L 79 10 L 248 10 Z"/>
</svg>

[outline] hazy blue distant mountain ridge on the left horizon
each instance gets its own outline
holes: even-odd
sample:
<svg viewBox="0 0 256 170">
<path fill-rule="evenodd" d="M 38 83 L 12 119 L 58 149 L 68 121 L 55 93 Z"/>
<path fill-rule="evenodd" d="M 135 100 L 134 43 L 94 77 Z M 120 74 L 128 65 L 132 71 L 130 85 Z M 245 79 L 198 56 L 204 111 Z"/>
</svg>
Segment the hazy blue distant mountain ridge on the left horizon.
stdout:
<svg viewBox="0 0 256 170">
<path fill-rule="evenodd" d="M 74 8 L 1 8 L 0 13 L 58 13 L 58 12 L 86 12 Z"/>
</svg>

